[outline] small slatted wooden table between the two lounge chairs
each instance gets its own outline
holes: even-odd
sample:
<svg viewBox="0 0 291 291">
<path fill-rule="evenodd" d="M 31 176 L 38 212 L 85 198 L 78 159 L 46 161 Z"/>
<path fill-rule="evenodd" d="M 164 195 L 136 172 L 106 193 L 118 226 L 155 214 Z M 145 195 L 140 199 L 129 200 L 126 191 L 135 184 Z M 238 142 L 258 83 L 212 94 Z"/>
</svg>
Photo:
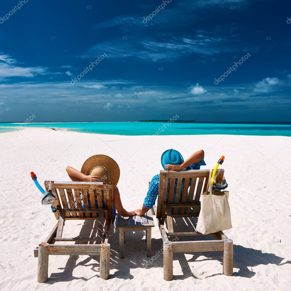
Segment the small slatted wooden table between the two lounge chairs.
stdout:
<svg viewBox="0 0 291 291">
<path fill-rule="evenodd" d="M 124 259 L 124 236 L 125 231 L 145 231 L 145 239 L 147 243 L 147 257 L 150 257 L 151 241 L 152 241 L 152 227 L 155 226 L 152 218 L 152 212 L 145 213 L 142 217 L 132 216 L 124 218 L 118 215 L 116 227 L 119 228 L 119 258 Z"/>
</svg>

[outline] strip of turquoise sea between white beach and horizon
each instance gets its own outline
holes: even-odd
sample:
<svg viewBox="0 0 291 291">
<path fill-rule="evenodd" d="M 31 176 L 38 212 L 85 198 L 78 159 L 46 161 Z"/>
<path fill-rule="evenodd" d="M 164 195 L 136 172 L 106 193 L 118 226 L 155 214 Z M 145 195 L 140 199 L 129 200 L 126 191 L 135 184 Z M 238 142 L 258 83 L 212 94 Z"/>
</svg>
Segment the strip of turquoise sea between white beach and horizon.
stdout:
<svg viewBox="0 0 291 291">
<path fill-rule="evenodd" d="M 6 127 L 6 128 L 4 128 Z M 77 132 L 119 135 L 280 135 L 291 136 L 291 124 L 170 123 L 166 122 L 60 122 L 0 123 L 0 132 L 13 127 L 48 127 Z"/>
</svg>

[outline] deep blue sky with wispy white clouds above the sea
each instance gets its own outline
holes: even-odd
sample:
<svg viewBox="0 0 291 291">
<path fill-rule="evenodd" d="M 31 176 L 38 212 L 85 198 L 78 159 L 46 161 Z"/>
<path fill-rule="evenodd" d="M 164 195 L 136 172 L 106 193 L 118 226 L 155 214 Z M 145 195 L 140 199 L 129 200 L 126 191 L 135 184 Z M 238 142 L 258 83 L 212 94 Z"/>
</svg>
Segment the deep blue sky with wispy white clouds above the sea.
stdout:
<svg viewBox="0 0 291 291">
<path fill-rule="evenodd" d="M 25 1 L 1 2 L 0 122 L 290 121 L 289 1 Z"/>
</svg>

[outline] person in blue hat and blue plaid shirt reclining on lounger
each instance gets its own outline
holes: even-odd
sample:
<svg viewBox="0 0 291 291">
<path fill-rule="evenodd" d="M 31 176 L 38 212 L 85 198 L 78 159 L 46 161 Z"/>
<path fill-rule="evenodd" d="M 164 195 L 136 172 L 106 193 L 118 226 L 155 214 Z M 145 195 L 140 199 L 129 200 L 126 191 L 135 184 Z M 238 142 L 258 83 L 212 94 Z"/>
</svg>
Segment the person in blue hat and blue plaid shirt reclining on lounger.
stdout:
<svg viewBox="0 0 291 291">
<path fill-rule="evenodd" d="M 204 162 L 204 151 L 198 150 L 197 152 L 194 152 L 193 155 L 191 155 L 186 161 L 184 161 L 182 155 L 177 150 L 166 150 L 162 154 L 162 166 L 165 170 L 199 170 L 200 166 L 205 166 Z M 149 182 L 148 187 L 148 193 L 144 199 L 143 207 L 141 209 L 136 209 L 134 212 L 142 216 L 146 212 L 148 212 L 154 205 L 159 193 L 159 178 L 160 175 L 155 175 L 152 177 L 152 180 Z M 170 179 L 168 181 L 168 189 L 169 189 Z M 191 184 L 191 181 L 189 181 L 189 187 Z M 175 182 L 175 188 L 174 188 L 174 195 L 173 195 L 173 203 L 175 200 L 175 192 L 177 187 L 177 180 Z M 180 194 L 180 200 L 182 198 L 183 194 L 183 188 L 184 188 L 184 181 L 182 182 L 181 186 L 181 194 Z M 167 192 L 167 199 L 168 199 L 169 193 Z"/>
</svg>

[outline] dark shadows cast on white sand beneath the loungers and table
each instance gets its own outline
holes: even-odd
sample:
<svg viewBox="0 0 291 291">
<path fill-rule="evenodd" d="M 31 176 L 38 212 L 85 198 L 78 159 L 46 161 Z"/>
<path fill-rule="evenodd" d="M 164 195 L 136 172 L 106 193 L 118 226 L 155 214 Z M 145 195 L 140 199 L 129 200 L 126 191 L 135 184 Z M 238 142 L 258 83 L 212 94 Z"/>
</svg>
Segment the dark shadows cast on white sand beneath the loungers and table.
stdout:
<svg viewBox="0 0 291 291">
<path fill-rule="evenodd" d="M 192 223 L 195 225 L 197 220 L 193 220 Z M 180 231 L 187 228 L 186 225 L 190 226 L 191 220 L 183 221 L 179 220 L 179 223 L 174 223 L 174 228 L 178 228 Z M 97 224 L 96 224 L 97 225 Z M 92 231 L 93 229 L 93 231 Z M 90 234 L 94 235 L 97 233 L 97 226 L 95 226 L 95 221 L 92 220 L 85 220 L 84 225 L 81 228 L 80 237 L 88 237 Z M 120 279 L 132 279 L 134 276 L 130 273 L 131 269 L 134 268 L 162 268 L 163 267 L 163 255 L 162 255 L 162 246 L 163 241 L 162 238 L 156 239 L 152 238 L 152 252 L 151 258 L 146 257 L 146 244 L 145 244 L 145 233 L 143 231 L 138 232 L 126 232 L 125 237 L 125 258 L 119 259 L 119 233 L 116 228 L 111 226 L 111 235 L 109 238 L 110 243 L 110 278 L 120 278 Z M 189 237 L 188 237 L 189 239 Z M 213 236 L 204 236 L 201 238 L 195 237 L 192 239 L 203 239 L 203 240 L 210 240 L 214 239 Z M 187 240 L 187 238 L 182 237 L 181 240 Z M 86 242 L 76 242 L 76 244 L 84 244 Z M 203 262 L 207 260 L 213 261 L 215 264 L 214 269 L 218 270 L 217 274 L 213 274 L 209 277 L 217 276 L 222 274 L 222 252 L 201 252 L 201 253 L 189 253 L 192 255 L 192 258 L 189 260 L 186 259 L 183 253 L 174 253 L 173 258 L 174 260 L 178 260 L 180 263 L 180 267 L 182 269 L 182 275 L 175 275 L 173 280 L 182 280 L 188 277 L 194 277 L 200 279 L 193 275 L 189 264 L 191 262 Z M 203 259 L 199 259 L 200 257 L 204 257 Z M 206 257 L 206 258 L 205 258 Z M 53 284 L 55 282 L 60 281 L 72 281 L 75 279 L 82 279 L 84 281 L 88 281 L 94 277 L 99 277 L 100 272 L 100 256 L 83 256 L 81 257 L 83 260 L 77 263 L 79 256 L 69 256 L 68 261 L 66 262 L 65 267 L 59 267 L 59 270 L 63 270 L 63 272 L 58 273 L 51 273 L 49 274 L 49 279 L 46 282 L 47 284 Z M 94 259 L 95 262 L 92 263 L 91 259 Z M 273 253 L 262 253 L 260 250 L 246 248 L 241 245 L 234 244 L 233 245 L 233 267 L 238 269 L 237 272 L 233 273 L 233 276 L 240 276 L 245 278 L 251 278 L 255 275 L 255 272 L 252 271 L 252 267 L 258 265 L 284 265 L 284 264 L 291 264 L 291 261 L 287 261 L 282 263 L 284 258 L 278 257 Z M 217 264 L 215 263 L 216 261 Z M 147 265 L 147 266 L 146 266 Z M 221 265 L 221 266 L 219 266 Z M 75 277 L 73 276 L 74 268 L 78 266 L 90 266 L 96 272 L 96 275 L 92 276 L 91 278 L 84 278 L 84 277 Z M 251 270 L 249 270 L 249 268 Z M 113 269 L 117 269 L 113 273 Z M 154 270 L 152 270 L 154 271 Z M 162 280 L 163 278 L 161 278 Z"/>
</svg>

